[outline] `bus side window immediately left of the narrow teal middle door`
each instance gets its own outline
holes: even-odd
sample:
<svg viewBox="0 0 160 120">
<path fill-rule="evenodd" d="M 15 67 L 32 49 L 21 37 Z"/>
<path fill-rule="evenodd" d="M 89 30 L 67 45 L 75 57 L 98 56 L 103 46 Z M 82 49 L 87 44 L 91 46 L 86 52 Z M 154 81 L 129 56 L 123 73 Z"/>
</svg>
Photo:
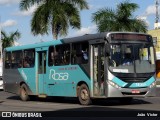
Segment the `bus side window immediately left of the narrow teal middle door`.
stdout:
<svg viewBox="0 0 160 120">
<path fill-rule="evenodd" d="M 35 64 L 35 50 L 29 49 L 24 51 L 23 67 L 32 68 Z"/>
</svg>

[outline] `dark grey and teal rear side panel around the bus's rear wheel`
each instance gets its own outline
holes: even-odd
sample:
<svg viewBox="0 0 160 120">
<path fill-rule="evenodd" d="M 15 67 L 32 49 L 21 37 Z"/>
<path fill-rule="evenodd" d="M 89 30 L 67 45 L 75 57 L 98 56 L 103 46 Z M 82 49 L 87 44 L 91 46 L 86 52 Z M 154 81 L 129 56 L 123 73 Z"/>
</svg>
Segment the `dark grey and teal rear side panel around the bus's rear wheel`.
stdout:
<svg viewBox="0 0 160 120">
<path fill-rule="evenodd" d="M 27 72 L 29 71 L 29 72 Z M 20 83 L 24 82 L 29 86 L 29 94 L 34 94 L 35 76 L 34 69 L 5 69 L 4 70 L 4 90 L 6 92 L 19 94 Z M 27 79 L 26 79 L 27 78 Z M 32 93 L 33 92 L 33 93 Z"/>
</svg>

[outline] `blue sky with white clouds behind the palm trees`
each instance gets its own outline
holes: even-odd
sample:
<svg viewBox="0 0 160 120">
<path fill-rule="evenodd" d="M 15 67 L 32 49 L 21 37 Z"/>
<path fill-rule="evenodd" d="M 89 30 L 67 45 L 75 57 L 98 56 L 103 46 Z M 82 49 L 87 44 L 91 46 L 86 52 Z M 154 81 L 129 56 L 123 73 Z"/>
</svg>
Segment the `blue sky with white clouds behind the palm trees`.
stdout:
<svg viewBox="0 0 160 120">
<path fill-rule="evenodd" d="M 0 0 L 0 21 L 1 28 L 8 34 L 18 30 L 21 33 L 21 38 L 17 41 L 20 45 L 34 44 L 41 41 L 53 40 L 52 33 L 49 35 L 34 36 L 31 33 L 31 18 L 34 10 L 33 6 L 28 11 L 20 11 L 19 3 L 21 0 Z M 81 16 L 81 29 L 69 29 L 68 35 L 61 38 L 68 38 L 74 36 L 81 36 L 84 34 L 97 33 L 97 26 L 92 22 L 92 14 L 101 8 L 116 9 L 116 5 L 124 0 L 87 0 L 89 9 L 82 10 Z M 134 17 L 143 19 L 148 29 L 151 30 L 154 27 L 155 22 L 155 0 L 129 0 L 132 3 L 139 5 L 139 8 L 134 12 Z M 159 0 L 160 3 L 160 0 Z M 160 13 L 160 6 L 159 6 Z M 60 39 L 61 39 L 60 38 Z"/>
</svg>

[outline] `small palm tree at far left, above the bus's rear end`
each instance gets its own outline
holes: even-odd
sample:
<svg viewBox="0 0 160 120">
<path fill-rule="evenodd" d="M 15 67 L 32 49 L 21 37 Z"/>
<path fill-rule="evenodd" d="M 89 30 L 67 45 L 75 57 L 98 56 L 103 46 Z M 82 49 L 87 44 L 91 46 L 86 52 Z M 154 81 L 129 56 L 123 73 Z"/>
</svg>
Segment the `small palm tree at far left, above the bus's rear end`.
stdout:
<svg viewBox="0 0 160 120">
<path fill-rule="evenodd" d="M 15 41 L 20 38 L 21 34 L 18 32 L 12 32 L 9 35 L 5 31 L 1 31 L 2 50 L 6 47 L 14 45 Z"/>
</svg>

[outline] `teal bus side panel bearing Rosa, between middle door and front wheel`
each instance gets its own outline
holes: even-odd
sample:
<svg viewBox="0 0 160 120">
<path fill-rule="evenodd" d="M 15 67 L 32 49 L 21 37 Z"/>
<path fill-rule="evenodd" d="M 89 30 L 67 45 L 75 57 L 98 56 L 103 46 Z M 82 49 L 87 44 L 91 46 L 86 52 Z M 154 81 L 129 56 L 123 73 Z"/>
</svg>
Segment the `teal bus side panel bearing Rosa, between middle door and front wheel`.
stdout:
<svg viewBox="0 0 160 120">
<path fill-rule="evenodd" d="M 91 90 L 91 80 L 78 65 L 49 67 L 46 92 L 49 96 L 77 96 L 77 84 L 85 82 Z"/>
</svg>

